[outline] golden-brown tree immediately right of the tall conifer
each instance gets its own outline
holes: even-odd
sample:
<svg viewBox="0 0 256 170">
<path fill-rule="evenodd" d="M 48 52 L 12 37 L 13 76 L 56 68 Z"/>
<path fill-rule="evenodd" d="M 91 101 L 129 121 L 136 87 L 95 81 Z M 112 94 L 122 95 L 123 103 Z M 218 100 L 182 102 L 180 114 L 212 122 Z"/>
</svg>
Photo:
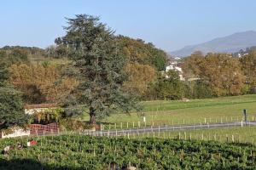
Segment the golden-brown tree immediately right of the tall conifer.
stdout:
<svg viewBox="0 0 256 170">
<path fill-rule="evenodd" d="M 128 64 L 125 71 L 129 75 L 129 81 L 124 83 L 124 87 L 133 93 L 145 96 L 148 91 L 148 85 L 156 77 L 156 71 L 150 65 L 141 65 L 138 63 Z"/>
</svg>

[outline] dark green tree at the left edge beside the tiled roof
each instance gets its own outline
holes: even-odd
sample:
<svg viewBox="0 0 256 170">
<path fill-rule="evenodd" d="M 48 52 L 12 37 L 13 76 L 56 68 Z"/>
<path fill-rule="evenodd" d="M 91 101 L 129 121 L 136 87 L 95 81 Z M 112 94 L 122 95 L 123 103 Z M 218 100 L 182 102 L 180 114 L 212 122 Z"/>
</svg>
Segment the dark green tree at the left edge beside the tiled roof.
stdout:
<svg viewBox="0 0 256 170">
<path fill-rule="evenodd" d="M 0 129 L 23 126 L 28 118 L 24 113 L 20 92 L 13 88 L 0 88 Z"/>
</svg>

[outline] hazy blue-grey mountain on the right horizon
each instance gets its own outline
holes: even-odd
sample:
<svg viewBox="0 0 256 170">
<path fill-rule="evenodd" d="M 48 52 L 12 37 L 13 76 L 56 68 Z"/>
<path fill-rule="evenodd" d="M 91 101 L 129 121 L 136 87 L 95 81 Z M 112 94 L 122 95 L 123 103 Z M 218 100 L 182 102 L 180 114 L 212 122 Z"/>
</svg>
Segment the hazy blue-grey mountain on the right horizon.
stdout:
<svg viewBox="0 0 256 170">
<path fill-rule="evenodd" d="M 186 46 L 172 51 L 172 56 L 186 57 L 195 51 L 207 53 L 236 53 L 241 49 L 256 46 L 256 31 L 237 32 L 227 37 L 218 37 L 209 42 Z"/>
</svg>

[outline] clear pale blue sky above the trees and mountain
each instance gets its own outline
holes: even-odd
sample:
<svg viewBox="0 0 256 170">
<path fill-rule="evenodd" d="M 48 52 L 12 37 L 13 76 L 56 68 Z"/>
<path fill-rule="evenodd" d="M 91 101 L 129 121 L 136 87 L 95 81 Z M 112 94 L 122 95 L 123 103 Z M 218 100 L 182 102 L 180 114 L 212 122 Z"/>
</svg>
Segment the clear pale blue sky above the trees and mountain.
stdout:
<svg viewBox="0 0 256 170">
<path fill-rule="evenodd" d="M 1 0 L 0 47 L 46 48 L 75 14 L 91 14 L 115 34 L 170 52 L 239 31 L 256 31 L 255 0 Z"/>
</svg>

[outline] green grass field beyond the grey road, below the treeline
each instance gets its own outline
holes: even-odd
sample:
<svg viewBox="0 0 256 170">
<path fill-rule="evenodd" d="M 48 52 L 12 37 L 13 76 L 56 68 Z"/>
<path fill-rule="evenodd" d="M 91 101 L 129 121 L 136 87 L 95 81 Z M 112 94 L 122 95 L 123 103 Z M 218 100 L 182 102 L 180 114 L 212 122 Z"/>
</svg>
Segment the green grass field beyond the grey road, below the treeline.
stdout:
<svg viewBox="0 0 256 170">
<path fill-rule="evenodd" d="M 235 122 L 243 119 L 242 110 L 247 109 L 249 121 L 256 119 L 256 95 L 222 97 L 216 99 L 193 99 L 184 101 L 145 101 L 142 113 L 114 114 L 102 120 L 105 129 L 143 126 Z M 143 115 L 146 122 L 143 122 Z M 83 117 L 85 121 L 89 116 Z"/>
</svg>

